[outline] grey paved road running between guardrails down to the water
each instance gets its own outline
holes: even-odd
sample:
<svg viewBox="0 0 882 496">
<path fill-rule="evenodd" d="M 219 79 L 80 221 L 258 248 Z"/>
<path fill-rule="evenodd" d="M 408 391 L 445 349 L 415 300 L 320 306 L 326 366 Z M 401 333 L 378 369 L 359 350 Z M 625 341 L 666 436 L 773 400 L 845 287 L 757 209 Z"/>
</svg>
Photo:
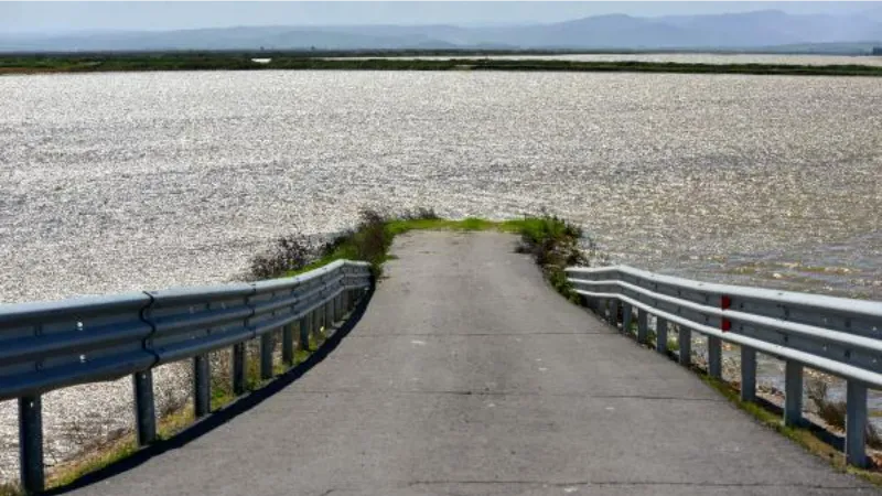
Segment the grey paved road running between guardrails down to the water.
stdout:
<svg viewBox="0 0 882 496">
<path fill-rule="evenodd" d="M 323 362 L 75 494 L 874 494 L 566 302 L 515 242 L 399 238 Z"/>
</svg>

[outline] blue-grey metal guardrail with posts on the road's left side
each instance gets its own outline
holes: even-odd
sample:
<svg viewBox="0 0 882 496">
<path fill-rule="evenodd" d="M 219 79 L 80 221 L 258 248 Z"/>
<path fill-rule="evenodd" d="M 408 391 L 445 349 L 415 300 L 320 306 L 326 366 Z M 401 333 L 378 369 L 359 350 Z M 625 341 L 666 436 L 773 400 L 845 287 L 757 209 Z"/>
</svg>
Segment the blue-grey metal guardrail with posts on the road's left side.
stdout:
<svg viewBox="0 0 882 496">
<path fill-rule="evenodd" d="M 157 439 L 152 369 L 193 359 L 196 417 L 211 411 L 207 354 L 233 347 L 234 392 L 245 391 L 245 343 L 260 337 L 260 374 L 272 377 L 272 333 L 282 359 L 298 342 L 344 317 L 372 284 L 370 266 L 336 261 L 289 279 L 0 305 L 0 400 L 19 401 L 21 484 L 44 487 L 41 395 L 133 378 L 138 442 Z"/>
</svg>

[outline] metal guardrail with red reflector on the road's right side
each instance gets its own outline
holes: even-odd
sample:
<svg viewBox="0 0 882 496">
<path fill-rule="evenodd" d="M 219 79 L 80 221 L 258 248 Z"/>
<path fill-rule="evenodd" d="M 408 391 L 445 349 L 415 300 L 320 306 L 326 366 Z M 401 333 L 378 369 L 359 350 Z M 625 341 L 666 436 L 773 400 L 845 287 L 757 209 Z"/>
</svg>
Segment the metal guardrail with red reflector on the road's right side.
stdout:
<svg viewBox="0 0 882 496">
<path fill-rule="evenodd" d="M 708 337 L 708 374 L 722 376 L 722 342 L 741 347 L 741 399 L 756 399 L 756 353 L 785 362 L 784 421 L 803 420 L 803 367 L 847 380 L 846 459 L 867 466 L 867 389 L 882 389 L 882 303 L 767 289 L 697 282 L 630 267 L 567 270 L 588 306 L 623 332 L 637 321 L 648 342 L 667 353 L 671 324 L 679 328 L 679 360 L 691 360 L 692 331 Z M 622 305 L 621 322 L 620 309 Z"/>
</svg>

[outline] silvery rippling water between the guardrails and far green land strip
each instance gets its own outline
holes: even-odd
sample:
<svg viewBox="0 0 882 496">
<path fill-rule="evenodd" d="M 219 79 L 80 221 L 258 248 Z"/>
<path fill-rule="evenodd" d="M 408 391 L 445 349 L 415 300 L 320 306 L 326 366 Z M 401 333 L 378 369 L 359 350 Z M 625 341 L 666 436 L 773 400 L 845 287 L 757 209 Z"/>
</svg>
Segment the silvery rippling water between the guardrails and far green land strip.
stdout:
<svg viewBox="0 0 882 496">
<path fill-rule="evenodd" d="M 542 208 L 614 261 L 882 299 L 882 84 L 649 74 L 0 78 L 0 301 L 229 280 L 363 206 Z"/>
</svg>

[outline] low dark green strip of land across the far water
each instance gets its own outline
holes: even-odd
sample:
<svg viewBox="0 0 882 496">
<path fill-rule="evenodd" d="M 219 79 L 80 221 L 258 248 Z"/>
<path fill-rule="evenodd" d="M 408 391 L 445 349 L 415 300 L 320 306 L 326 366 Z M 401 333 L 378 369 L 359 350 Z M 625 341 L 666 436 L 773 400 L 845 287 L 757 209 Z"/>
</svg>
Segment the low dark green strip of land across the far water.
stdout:
<svg viewBox="0 0 882 496">
<path fill-rule="evenodd" d="M 797 64 L 704 64 L 642 61 L 488 58 L 496 53 L 421 52 L 172 52 L 10 54 L 0 56 L 0 75 L 150 71 L 509 71 L 593 73 L 751 74 L 788 76 L 882 76 L 882 66 Z M 413 58 L 438 56 L 439 58 Z M 449 56 L 450 58 L 445 58 Z M 483 58 L 482 58 L 483 57 Z"/>
</svg>

